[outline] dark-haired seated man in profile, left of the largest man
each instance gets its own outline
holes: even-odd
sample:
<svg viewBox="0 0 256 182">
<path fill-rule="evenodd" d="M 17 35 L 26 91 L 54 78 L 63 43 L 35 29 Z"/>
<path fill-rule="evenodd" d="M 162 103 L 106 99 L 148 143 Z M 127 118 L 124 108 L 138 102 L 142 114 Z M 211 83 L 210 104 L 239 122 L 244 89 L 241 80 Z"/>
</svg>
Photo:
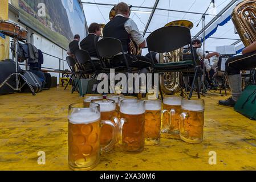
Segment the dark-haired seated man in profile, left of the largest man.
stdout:
<svg viewBox="0 0 256 182">
<path fill-rule="evenodd" d="M 92 23 L 89 26 L 88 31 L 89 35 L 81 41 L 80 47 L 81 49 L 88 51 L 92 59 L 97 58 L 98 56 L 95 43 L 101 39 L 101 27 L 97 23 Z"/>
</svg>

